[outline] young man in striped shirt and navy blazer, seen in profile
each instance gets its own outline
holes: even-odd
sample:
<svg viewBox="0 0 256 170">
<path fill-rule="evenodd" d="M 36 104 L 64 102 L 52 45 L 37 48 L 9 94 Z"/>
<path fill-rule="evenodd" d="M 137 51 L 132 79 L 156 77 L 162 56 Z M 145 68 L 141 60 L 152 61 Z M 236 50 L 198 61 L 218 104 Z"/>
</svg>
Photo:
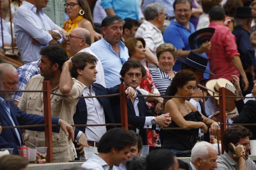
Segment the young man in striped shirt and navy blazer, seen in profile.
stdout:
<svg viewBox="0 0 256 170">
<path fill-rule="evenodd" d="M 118 88 L 104 88 L 102 85 L 94 83 L 96 81 L 96 63 L 98 59 L 87 52 L 80 52 L 72 57 L 73 67 L 71 75 L 78 81 L 82 82 L 84 91 L 82 96 L 99 96 L 106 94 L 119 93 Z M 135 98 L 136 91 L 129 87 L 126 89 L 127 98 Z M 113 111 L 108 97 L 102 98 L 81 98 L 76 106 L 76 112 L 73 116 L 74 124 L 85 125 L 99 125 L 105 123 L 115 123 Z M 113 126 L 88 126 L 77 127 L 75 129 L 75 146 L 77 148 L 77 155 L 80 160 L 83 160 L 84 153 L 81 142 L 78 139 L 81 135 L 86 135 L 89 146 L 98 144 L 101 136 Z M 86 143 L 83 142 L 83 143 Z"/>
</svg>

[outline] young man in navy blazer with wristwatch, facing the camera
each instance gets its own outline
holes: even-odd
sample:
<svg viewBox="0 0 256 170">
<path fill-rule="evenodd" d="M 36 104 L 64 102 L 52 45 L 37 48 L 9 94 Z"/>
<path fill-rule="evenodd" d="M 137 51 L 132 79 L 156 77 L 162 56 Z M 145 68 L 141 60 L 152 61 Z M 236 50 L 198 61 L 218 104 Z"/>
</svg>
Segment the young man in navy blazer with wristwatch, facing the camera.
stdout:
<svg viewBox="0 0 256 170">
<path fill-rule="evenodd" d="M 136 90 L 145 77 L 146 70 L 140 62 L 130 59 L 123 64 L 120 75 L 126 86 Z M 137 94 L 141 94 L 140 91 L 137 90 Z M 116 123 L 121 123 L 119 98 L 111 99 L 111 105 Z M 147 145 L 147 128 L 160 130 L 160 127 L 167 127 L 171 123 L 169 113 L 154 116 L 143 97 L 127 99 L 127 114 L 128 124 L 133 126 L 131 130 L 142 136 L 144 145 Z"/>
</svg>

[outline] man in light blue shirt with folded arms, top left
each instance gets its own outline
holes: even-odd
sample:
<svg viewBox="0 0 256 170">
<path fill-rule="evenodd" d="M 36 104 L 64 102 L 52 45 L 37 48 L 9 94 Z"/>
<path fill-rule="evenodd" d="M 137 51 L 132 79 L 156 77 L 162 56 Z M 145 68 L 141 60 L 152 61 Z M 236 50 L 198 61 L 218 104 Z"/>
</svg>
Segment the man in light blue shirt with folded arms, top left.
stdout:
<svg viewBox="0 0 256 170">
<path fill-rule="evenodd" d="M 48 1 L 27 0 L 14 13 L 14 34 L 24 64 L 37 61 L 39 51 L 49 44 L 62 43 L 61 28 L 43 12 Z"/>
</svg>

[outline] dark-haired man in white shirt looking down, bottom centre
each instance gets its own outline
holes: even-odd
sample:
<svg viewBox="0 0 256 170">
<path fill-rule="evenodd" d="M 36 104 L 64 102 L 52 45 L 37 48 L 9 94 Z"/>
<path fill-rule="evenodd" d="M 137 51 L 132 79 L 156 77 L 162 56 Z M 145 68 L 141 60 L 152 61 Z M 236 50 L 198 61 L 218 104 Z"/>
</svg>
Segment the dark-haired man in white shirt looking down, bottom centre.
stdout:
<svg viewBox="0 0 256 170">
<path fill-rule="evenodd" d="M 124 128 L 107 131 L 99 141 L 98 152 L 93 154 L 83 165 L 88 170 L 112 170 L 128 159 L 131 146 L 137 144 L 136 138 Z"/>
</svg>

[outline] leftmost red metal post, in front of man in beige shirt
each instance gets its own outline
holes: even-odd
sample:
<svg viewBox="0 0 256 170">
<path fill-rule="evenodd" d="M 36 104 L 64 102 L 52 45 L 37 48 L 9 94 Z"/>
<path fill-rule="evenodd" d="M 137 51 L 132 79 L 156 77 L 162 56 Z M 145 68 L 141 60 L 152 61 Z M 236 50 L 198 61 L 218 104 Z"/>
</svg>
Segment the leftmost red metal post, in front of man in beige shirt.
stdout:
<svg viewBox="0 0 256 170">
<path fill-rule="evenodd" d="M 53 162 L 53 134 L 51 126 L 51 96 L 50 96 L 50 82 L 43 82 L 43 90 L 46 90 L 43 94 L 44 100 L 44 134 L 45 134 L 45 146 L 47 146 L 46 162 Z"/>
</svg>

